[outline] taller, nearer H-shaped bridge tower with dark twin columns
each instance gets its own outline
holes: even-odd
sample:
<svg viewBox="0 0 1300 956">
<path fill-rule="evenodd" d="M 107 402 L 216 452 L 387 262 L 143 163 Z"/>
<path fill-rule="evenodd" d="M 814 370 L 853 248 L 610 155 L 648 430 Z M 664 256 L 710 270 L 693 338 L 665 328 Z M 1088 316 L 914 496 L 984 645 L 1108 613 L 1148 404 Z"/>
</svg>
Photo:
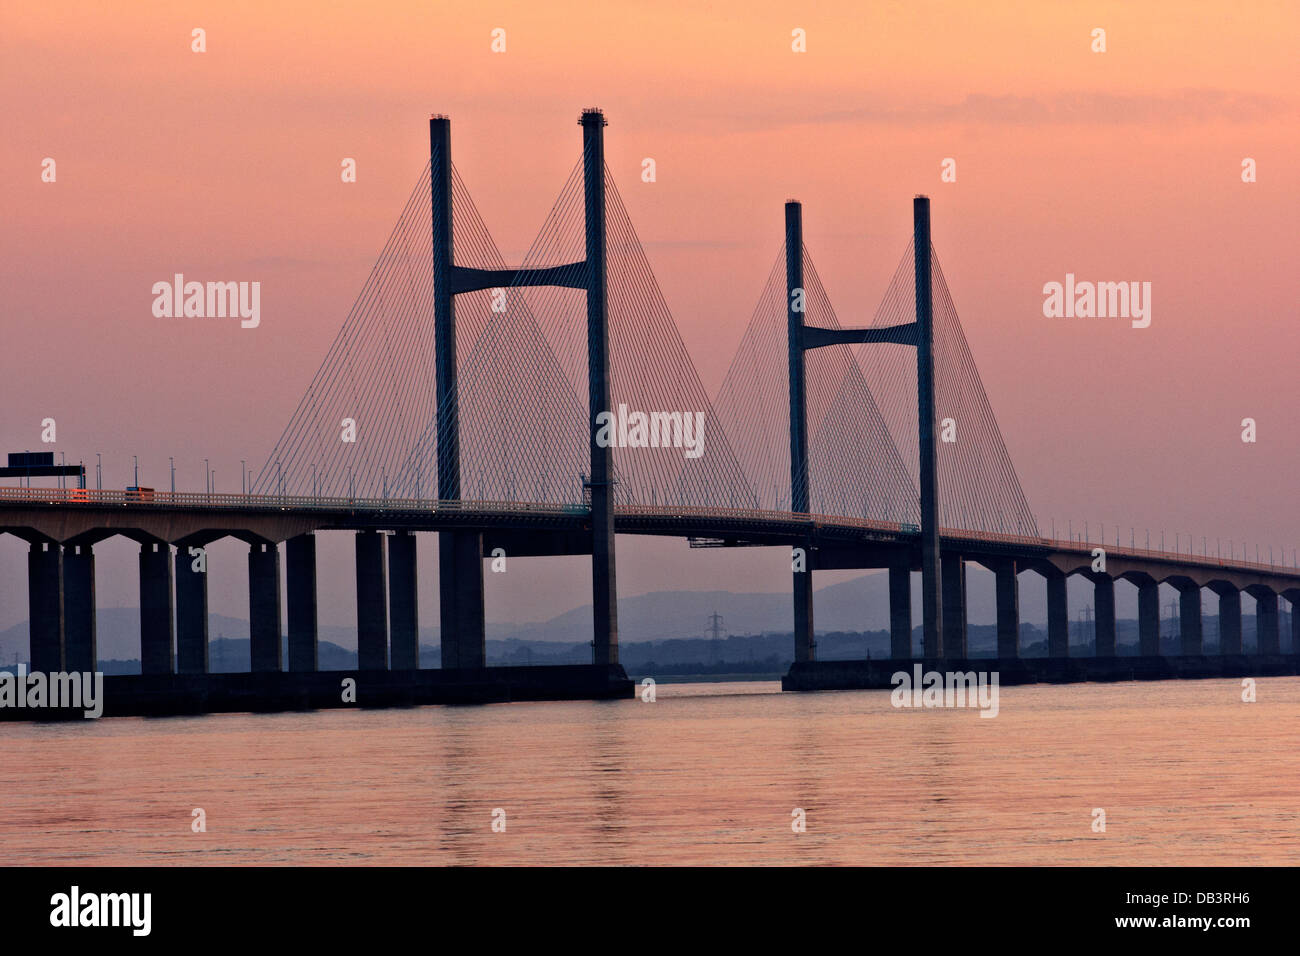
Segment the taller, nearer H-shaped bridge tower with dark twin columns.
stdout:
<svg viewBox="0 0 1300 956">
<path fill-rule="evenodd" d="M 455 264 L 451 215 L 451 121 L 429 120 L 433 177 L 434 349 L 438 398 L 438 498 L 460 498 L 460 408 L 456 401 L 455 297 L 497 287 L 563 286 L 586 293 L 588 431 L 592 475 L 593 658 L 619 661 L 619 614 L 614 550 L 614 449 L 595 437 L 597 415 L 610 410 L 610 329 L 606 271 L 604 114 L 585 109 L 582 185 L 586 220 L 585 259 L 545 269 L 474 269 Z M 484 540 L 481 532 L 441 532 L 438 571 L 442 666 L 486 666 L 484 632 Z"/>
</svg>

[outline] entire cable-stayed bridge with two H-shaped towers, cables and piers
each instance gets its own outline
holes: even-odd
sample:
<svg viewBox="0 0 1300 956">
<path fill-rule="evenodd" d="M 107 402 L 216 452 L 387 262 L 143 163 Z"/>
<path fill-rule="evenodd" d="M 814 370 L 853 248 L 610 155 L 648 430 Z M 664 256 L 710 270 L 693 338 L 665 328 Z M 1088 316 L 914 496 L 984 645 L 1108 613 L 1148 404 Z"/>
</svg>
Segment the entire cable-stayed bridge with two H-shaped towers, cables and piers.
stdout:
<svg viewBox="0 0 1300 956">
<path fill-rule="evenodd" d="M 914 199 L 914 234 L 881 306 L 849 328 L 805 247 L 802 207 L 788 202 L 784 246 L 711 401 L 604 164 L 604 116 L 584 111 L 580 125 L 582 156 L 510 268 L 451 163 L 450 120 L 430 118 L 429 164 L 246 493 L 0 488 L 0 532 L 30 546 L 32 670 L 95 670 L 94 549 L 122 535 L 140 545 L 143 671 L 118 679 L 122 697 L 161 710 L 195 697 L 200 709 L 337 701 L 338 675 L 326 683 L 317 671 L 315 532 L 347 531 L 356 675 L 387 700 L 629 695 L 616 535 L 788 548 L 790 689 L 883 679 L 879 667 L 818 661 L 815 571 L 888 568 L 890 669 L 957 666 L 968 656 L 970 562 L 996 579 L 996 666 L 1023 679 L 1296 672 L 1300 568 L 1040 535 L 931 243 L 927 198 Z M 424 671 L 419 532 L 438 535 L 441 669 Z M 250 548 L 252 683 L 208 672 L 205 548 L 222 537 Z M 559 669 L 551 684 L 546 667 L 488 667 L 484 559 L 502 553 L 590 555 L 590 667 Z M 1046 581 L 1048 658 L 1037 663 L 1020 657 L 1023 571 Z M 1086 672 L 1065 663 L 1069 575 L 1095 588 Z M 1118 580 L 1138 588 L 1138 658 L 1115 656 Z M 1162 583 L 1180 593 L 1179 659 L 1160 657 Z M 1202 588 L 1218 596 L 1217 659 L 1202 654 Z M 1243 592 L 1256 602 L 1249 657 Z M 1279 597 L 1291 602 L 1290 654 Z"/>
</svg>

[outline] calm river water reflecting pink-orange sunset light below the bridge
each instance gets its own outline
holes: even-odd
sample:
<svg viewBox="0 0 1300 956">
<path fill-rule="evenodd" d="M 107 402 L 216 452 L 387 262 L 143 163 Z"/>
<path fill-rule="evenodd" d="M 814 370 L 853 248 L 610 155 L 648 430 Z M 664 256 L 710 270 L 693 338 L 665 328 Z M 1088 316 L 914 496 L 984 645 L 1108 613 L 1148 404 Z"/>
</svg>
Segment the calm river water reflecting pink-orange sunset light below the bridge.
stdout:
<svg viewBox="0 0 1300 956">
<path fill-rule="evenodd" d="M 5 723 L 0 840 L 10 865 L 1295 865 L 1297 718 L 1300 679 L 1271 678 L 1254 704 L 1232 680 L 1004 687 L 994 719 L 734 683 Z"/>
</svg>

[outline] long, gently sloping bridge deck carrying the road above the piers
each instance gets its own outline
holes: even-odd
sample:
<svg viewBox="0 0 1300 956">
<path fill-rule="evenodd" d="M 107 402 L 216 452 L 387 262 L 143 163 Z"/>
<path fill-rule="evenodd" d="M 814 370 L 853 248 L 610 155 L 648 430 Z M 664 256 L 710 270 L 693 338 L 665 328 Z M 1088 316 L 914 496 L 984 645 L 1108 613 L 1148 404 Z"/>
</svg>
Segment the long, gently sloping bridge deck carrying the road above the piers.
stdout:
<svg viewBox="0 0 1300 956">
<path fill-rule="evenodd" d="M 581 503 L 0 488 L 0 531 L 65 544 L 94 542 L 129 531 L 176 542 L 225 533 L 243 537 L 239 531 L 280 541 L 307 531 L 578 532 L 589 527 L 590 509 Z M 621 535 L 702 537 L 734 545 L 874 545 L 905 554 L 919 550 L 920 540 L 914 525 L 896 522 L 758 509 L 619 505 L 615 527 Z M 1115 578 L 1186 576 L 1200 584 L 1223 578 L 1240 587 L 1264 584 L 1279 593 L 1300 589 L 1300 568 L 1279 563 L 962 528 L 941 528 L 940 540 L 944 550 L 961 551 L 976 562 L 1013 557 L 1027 566 L 1078 572 L 1091 568 L 1093 550 L 1102 548 Z M 881 566 L 879 559 L 861 564 L 876 566 Z"/>
</svg>

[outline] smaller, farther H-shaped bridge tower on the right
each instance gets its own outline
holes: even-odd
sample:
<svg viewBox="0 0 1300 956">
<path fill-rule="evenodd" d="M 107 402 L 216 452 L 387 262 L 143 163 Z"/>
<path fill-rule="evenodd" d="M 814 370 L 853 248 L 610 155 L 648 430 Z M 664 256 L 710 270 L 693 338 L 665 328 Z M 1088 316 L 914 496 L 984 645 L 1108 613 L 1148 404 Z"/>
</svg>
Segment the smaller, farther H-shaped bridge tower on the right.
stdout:
<svg viewBox="0 0 1300 956">
<path fill-rule="evenodd" d="M 807 385 L 805 356 L 810 349 L 861 342 L 893 342 L 916 350 L 916 424 L 920 451 L 920 593 L 923 656 L 944 657 L 939 551 L 939 453 L 935 444 L 935 312 L 930 261 L 930 199 L 913 199 L 913 255 L 916 320 L 876 329 L 824 329 L 805 325 L 803 209 L 785 203 L 785 285 L 790 384 L 790 511 L 809 512 Z M 806 570 L 794 572 L 794 659 L 815 658 L 812 637 L 812 554 Z M 910 601 L 910 588 L 890 570 L 890 600 Z M 949 649 L 961 654 L 959 648 Z"/>
</svg>

